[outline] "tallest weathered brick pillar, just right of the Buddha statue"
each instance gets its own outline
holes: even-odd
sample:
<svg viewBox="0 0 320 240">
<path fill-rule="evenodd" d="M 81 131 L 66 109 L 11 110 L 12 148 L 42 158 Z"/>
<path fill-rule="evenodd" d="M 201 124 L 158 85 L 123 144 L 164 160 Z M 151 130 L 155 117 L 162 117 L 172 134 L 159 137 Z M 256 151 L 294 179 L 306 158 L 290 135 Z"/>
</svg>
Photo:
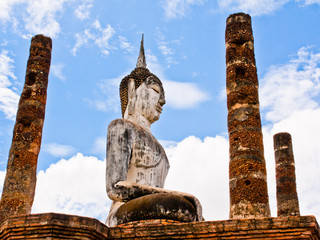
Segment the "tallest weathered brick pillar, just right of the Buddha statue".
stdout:
<svg viewBox="0 0 320 240">
<path fill-rule="evenodd" d="M 230 15 L 225 37 L 230 218 L 269 217 L 251 17 Z"/>
</svg>

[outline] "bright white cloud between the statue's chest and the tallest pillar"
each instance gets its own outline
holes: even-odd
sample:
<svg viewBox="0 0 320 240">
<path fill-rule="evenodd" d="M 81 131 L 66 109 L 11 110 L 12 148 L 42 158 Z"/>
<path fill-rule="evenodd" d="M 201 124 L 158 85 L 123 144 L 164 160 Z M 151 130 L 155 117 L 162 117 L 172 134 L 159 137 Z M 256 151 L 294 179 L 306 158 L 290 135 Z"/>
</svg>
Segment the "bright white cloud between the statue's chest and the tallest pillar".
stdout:
<svg viewBox="0 0 320 240">
<path fill-rule="evenodd" d="M 170 170 L 165 188 L 196 196 L 206 220 L 228 219 L 228 141 L 224 137 L 187 137 L 166 148 Z"/>
</svg>

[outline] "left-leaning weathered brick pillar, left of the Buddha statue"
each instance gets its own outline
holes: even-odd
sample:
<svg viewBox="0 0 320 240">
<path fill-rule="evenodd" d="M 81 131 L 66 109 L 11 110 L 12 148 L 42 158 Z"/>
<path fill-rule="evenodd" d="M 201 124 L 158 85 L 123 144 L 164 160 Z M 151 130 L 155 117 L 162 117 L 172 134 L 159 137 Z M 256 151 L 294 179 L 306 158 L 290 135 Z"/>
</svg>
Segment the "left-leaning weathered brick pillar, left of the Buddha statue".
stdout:
<svg viewBox="0 0 320 240">
<path fill-rule="evenodd" d="M 32 38 L 0 201 L 0 222 L 12 215 L 31 212 L 45 116 L 51 49 L 51 38 L 43 35 Z"/>
</svg>

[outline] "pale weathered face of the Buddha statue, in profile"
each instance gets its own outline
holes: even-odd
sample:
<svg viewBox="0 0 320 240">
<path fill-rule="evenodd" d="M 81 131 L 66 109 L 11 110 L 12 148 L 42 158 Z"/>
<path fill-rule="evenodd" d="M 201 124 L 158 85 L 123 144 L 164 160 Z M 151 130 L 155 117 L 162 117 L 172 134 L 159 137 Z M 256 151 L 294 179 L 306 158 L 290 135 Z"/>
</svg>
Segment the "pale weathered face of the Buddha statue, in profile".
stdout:
<svg viewBox="0 0 320 240">
<path fill-rule="evenodd" d="M 157 79 L 150 76 L 136 90 L 135 111 L 148 119 L 150 123 L 157 121 L 166 103 L 164 90 Z"/>
</svg>

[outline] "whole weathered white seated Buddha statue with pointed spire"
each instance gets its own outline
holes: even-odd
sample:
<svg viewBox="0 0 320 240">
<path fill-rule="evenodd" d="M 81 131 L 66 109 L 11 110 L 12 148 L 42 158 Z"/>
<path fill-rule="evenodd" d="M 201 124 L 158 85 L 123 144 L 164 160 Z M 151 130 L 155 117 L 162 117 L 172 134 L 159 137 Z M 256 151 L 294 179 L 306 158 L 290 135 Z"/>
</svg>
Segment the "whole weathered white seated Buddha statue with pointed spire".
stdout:
<svg viewBox="0 0 320 240">
<path fill-rule="evenodd" d="M 106 190 L 113 202 L 106 223 L 116 226 L 157 218 L 202 221 L 196 197 L 163 189 L 170 166 L 150 127 L 160 118 L 165 95 L 161 81 L 146 68 L 141 49 L 139 65 L 120 84 L 123 119 L 108 127 Z"/>
</svg>

